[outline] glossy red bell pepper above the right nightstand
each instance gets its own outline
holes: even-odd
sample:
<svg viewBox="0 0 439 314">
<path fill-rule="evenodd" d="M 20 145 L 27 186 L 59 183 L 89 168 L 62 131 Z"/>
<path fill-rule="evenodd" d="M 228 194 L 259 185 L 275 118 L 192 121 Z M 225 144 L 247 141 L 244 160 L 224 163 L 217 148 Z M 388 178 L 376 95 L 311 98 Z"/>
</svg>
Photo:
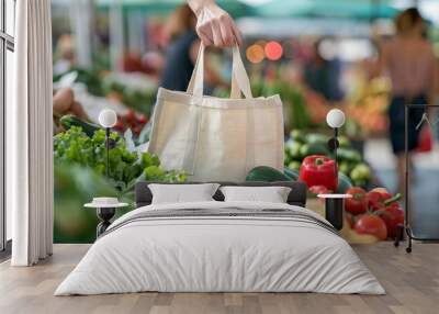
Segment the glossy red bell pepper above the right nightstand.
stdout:
<svg viewBox="0 0 439 314">
<path fill-rule="evenodd" d="M 336 162 L 327 156 L 311 155 L 302 161 L 300 180 L 308 188 L 324 186 L 335 192 L 338 186 L 338 173 Z"/>
</svg>

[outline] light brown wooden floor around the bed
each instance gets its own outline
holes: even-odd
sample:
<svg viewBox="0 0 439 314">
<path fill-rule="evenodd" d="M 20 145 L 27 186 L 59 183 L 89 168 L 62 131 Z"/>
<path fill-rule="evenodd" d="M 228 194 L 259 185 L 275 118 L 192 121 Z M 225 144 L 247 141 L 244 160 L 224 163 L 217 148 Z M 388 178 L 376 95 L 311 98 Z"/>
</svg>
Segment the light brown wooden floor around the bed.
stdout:
<svg viewBox="0 0 439 314">
<path fill-rule="evenodd" d="M 56 245 L 32 268 L 0 265 L 0 313 L 439 313 L 439 245 L 415 244 L 412 255 L 391 243 L 356 246 L 386 295 L 317 293 L 136 293 L 53 296 L 87 245 Z"/>
</svg>

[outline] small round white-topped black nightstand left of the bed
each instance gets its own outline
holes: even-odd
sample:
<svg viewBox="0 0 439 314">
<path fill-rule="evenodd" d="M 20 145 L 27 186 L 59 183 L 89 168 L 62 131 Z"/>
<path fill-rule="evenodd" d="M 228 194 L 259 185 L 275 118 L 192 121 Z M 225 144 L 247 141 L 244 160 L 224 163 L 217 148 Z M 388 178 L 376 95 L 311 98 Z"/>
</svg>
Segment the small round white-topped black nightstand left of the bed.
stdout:
<svg viewBox="0 0 439 314">
<path fill-rule="evenodd" d="M 87 209 L 95 209 L 100 223 L 97 226 L 97 238 L 103 234 L 111 225 L 117 209 L 126 208 L 127 203 L 120 203 L 116 198 L 93 198 L 91 203 L 83 206 Z"/>
</svg>

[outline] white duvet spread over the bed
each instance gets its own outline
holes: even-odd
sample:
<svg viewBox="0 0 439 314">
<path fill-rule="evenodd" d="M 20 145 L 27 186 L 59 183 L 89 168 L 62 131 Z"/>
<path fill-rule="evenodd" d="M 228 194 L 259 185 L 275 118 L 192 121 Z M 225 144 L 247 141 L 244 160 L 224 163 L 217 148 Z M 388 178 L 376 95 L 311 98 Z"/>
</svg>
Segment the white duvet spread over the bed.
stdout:
<svg viewBox="0 0 439 314">
<path fill-rule="evenodd" d="M 116 220 L 55 295 L 159 292 L 322 292 L 384 294 L 352 248 L 327 228 L 284 217 L 165 217 L 144 211 L 283 209 L 256 202 L 198 202 L 139 208 Z M 117 226 L 119 227 L 115 227 Z"/>
</svg>

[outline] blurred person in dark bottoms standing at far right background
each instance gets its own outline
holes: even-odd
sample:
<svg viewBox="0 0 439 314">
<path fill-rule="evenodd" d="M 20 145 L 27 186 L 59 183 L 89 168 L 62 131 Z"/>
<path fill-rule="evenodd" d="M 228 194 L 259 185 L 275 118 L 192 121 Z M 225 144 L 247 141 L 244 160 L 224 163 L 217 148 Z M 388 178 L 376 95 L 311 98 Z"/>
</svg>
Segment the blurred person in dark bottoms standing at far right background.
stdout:
<svg viewBox="0 0 439 314">
<path fill-rule="evenodd" d="M 385 42 L 373 75 L 386 74 L 392 82 L 389 109 L 390 138 L 397 158 L 397 191 L 404 191 L 405 170 L 405 105 L 434 103 L 436 70 L 432 46 L 425 38 L 425 22 L 415 8 L 407 9 L 395 19 L 396 36 Z M 408 115 L 408 150 L 418 147 L 420 128 L 416 126 L 424 109 L 410 109 Z M 407 156 L 410 158 L 410 156 Z M 412 160 L 410 160 L 412 164 Z"/>
</svg>

